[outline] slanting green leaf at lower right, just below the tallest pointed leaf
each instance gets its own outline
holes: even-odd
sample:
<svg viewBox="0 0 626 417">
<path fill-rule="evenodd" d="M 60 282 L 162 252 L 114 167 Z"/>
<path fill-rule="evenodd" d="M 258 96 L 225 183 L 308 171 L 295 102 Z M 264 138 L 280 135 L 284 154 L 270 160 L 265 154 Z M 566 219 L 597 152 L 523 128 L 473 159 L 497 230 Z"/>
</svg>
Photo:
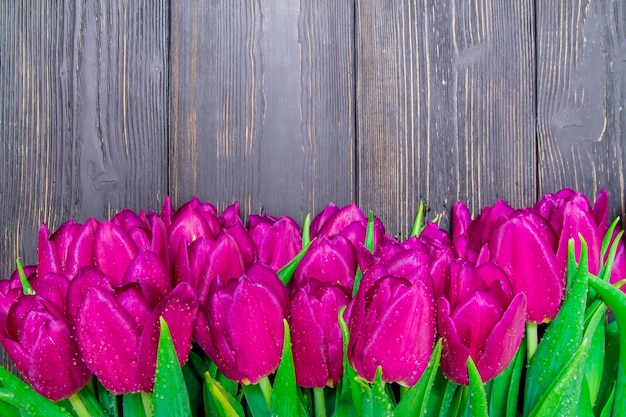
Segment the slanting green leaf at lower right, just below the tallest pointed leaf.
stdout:
<svg viewBox="0 0 626 417">
<path fill-rule="evenodd" d="M 589 326 L 585 330 L 582 343 L 537 401 L 530 411 L 530 417 L 578 415 L 578 403 L 581 391 L 583 391 L 582 382 L 586 370 L 586 360 L 598 325 L 603 319 L 603 310 L 599 309 L 593 314 Z M 552 354 L 551 356 L 554 358 L 557 355 Z"/>
</svg>

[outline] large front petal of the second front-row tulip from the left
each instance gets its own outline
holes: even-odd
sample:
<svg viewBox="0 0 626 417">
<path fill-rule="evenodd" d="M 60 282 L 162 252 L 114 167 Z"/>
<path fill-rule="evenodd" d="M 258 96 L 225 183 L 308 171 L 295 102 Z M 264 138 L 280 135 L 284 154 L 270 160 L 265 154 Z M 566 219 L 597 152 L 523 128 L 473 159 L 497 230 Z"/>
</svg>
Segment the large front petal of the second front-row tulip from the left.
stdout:
<svg viewBox="0 0 626 417">
<path fill-rule="evenodd" d="M 114 393 L 138 392 L 138 338 L 133 318 L 112 295 L 87 291 L 76 316 L 76 338 L 85 364 Z"/>
</svg>

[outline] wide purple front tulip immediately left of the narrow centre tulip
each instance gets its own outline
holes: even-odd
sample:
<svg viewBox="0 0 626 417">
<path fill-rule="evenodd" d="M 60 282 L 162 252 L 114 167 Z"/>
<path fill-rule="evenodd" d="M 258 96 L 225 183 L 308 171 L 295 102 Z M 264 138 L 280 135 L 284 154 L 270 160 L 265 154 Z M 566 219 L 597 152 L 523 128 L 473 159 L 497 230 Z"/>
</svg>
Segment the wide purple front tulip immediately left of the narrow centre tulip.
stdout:
<svg viewBox="0 0 626 417">
<path fill-rule="evenodd" d="M 229 379 L 256 383 L 278 368 L 287 291 L 271 268 L 257 263 L 238 279 L 211 282 L 195 338 Z"/>
</svg>

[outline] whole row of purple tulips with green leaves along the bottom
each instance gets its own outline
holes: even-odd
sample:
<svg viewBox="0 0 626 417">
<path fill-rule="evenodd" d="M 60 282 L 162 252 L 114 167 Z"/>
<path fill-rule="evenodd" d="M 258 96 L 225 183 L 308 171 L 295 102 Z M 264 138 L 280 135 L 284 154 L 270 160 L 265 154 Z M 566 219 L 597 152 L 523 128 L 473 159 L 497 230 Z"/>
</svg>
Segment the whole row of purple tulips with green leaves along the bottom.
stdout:
<svg viewBox="0 0 626 417">
<path fill-rule="evenodd" d="M 0 415 L 625 416 L 608 197 L 504 201 L 400 241 L 354 204 L 301 229 L 193 198 L 41 225 L 0 281 Z"/>
</svg>

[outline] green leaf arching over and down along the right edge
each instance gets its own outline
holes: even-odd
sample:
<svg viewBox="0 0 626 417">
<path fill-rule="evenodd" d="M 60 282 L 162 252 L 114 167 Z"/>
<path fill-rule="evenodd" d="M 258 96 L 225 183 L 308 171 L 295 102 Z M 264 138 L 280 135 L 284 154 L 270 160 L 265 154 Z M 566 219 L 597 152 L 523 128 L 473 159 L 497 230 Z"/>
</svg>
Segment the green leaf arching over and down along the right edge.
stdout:
<svg viewBox="0 0 626 417">
<path fill-rule="evenodd" d="M 617 380 L 613 415 L 626 415 L 626 294 L 608 282 L 589 277 L 589 285 L 595 289 L 606 304 L 611 307 L 619 329 L 619 363 L 617 366 Z"/>
</svg>

